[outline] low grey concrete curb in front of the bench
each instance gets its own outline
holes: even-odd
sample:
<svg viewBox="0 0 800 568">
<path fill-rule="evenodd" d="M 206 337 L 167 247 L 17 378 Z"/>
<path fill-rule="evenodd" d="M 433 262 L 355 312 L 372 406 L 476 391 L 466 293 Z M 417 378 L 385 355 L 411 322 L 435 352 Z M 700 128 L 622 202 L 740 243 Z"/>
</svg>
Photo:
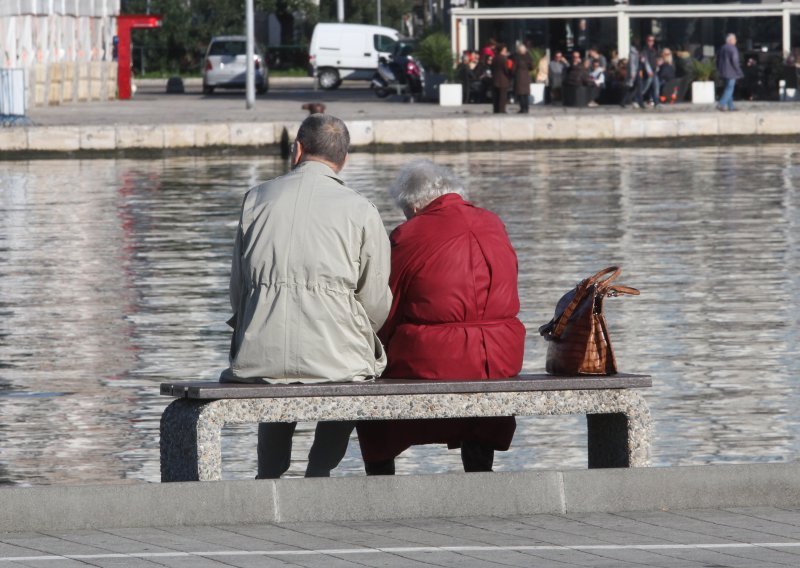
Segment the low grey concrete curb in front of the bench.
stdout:
<svg viewBox="0 0 800 568">
<path fill-rule="evenodd" d="M 800 506 L 800 463 L 0 490 L 0 532 Z"/>
</svg>

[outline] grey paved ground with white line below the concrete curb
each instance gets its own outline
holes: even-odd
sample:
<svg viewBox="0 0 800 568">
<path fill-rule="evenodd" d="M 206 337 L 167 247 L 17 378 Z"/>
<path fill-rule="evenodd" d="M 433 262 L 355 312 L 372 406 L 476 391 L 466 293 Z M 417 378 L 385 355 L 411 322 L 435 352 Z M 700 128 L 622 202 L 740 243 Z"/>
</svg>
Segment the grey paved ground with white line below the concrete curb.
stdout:
<svg viewBox="0 0 800 568">
<path fill-rule="evenodd" d="M 0 568 L 796 567 L 800 509 L 423 518 L 0 534 Z"/>
</svg>

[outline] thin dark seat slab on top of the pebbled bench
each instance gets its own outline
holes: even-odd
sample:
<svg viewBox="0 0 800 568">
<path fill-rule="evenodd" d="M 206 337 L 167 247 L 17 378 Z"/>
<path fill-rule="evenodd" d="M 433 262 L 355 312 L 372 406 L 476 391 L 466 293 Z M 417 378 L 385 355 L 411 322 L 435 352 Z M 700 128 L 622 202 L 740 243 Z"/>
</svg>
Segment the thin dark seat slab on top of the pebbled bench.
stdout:
<svg viewBox="0 0 800 568">
<path fill-rule="evenodd" d="M 495 380 L 377 379 L 366 382 L 250 384 L 216 381 L 161 383 L 161 394 L 175 398 L 288 398 L 311 396 L 370 396 L 442 393 L 527 392 L 552 390 L 630 389 L 653 386 L 649 375 L 556 377 L 519 375 Z"/>
</svg>

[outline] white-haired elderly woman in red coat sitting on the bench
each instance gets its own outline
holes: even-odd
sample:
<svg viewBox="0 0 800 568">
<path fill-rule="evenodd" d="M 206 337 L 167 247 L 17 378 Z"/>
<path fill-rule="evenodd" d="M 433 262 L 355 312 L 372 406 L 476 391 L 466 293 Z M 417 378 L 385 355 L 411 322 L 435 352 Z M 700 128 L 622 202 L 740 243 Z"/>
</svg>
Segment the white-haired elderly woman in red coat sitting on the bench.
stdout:
<svg viewBox="0 0 800 568">
<path fill-rule="evenodd" d="M 429 160 L 404 167 L 390 188 L 408 221 L 391 235 L 394 300 L 379 337 L 385 378 L 500 379 L 522 367 L 517 257 L 493 213 Z M 409 446 L 461 448 L 465 471 L 491 471 L 507 450 L 512 417 L 364 421 L 358 438 L 368 475 L 391 475 Z"/>
</svg>

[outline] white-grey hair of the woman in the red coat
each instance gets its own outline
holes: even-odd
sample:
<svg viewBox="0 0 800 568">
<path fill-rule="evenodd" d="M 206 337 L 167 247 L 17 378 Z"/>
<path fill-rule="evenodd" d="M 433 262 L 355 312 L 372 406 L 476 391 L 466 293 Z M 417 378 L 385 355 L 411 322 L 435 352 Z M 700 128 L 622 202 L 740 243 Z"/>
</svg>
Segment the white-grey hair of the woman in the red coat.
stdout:
<svg viewBox="0 0 800 568">
<path fill-rule="evenodd" d="M 413 160 L 400 169 L 389 194 L 395 203 L 406 209 L 422 209 L 437 197 L 456 193 L 466 198 L 464 184 L 453 172 L 430 160 Z"/>
</svg>

